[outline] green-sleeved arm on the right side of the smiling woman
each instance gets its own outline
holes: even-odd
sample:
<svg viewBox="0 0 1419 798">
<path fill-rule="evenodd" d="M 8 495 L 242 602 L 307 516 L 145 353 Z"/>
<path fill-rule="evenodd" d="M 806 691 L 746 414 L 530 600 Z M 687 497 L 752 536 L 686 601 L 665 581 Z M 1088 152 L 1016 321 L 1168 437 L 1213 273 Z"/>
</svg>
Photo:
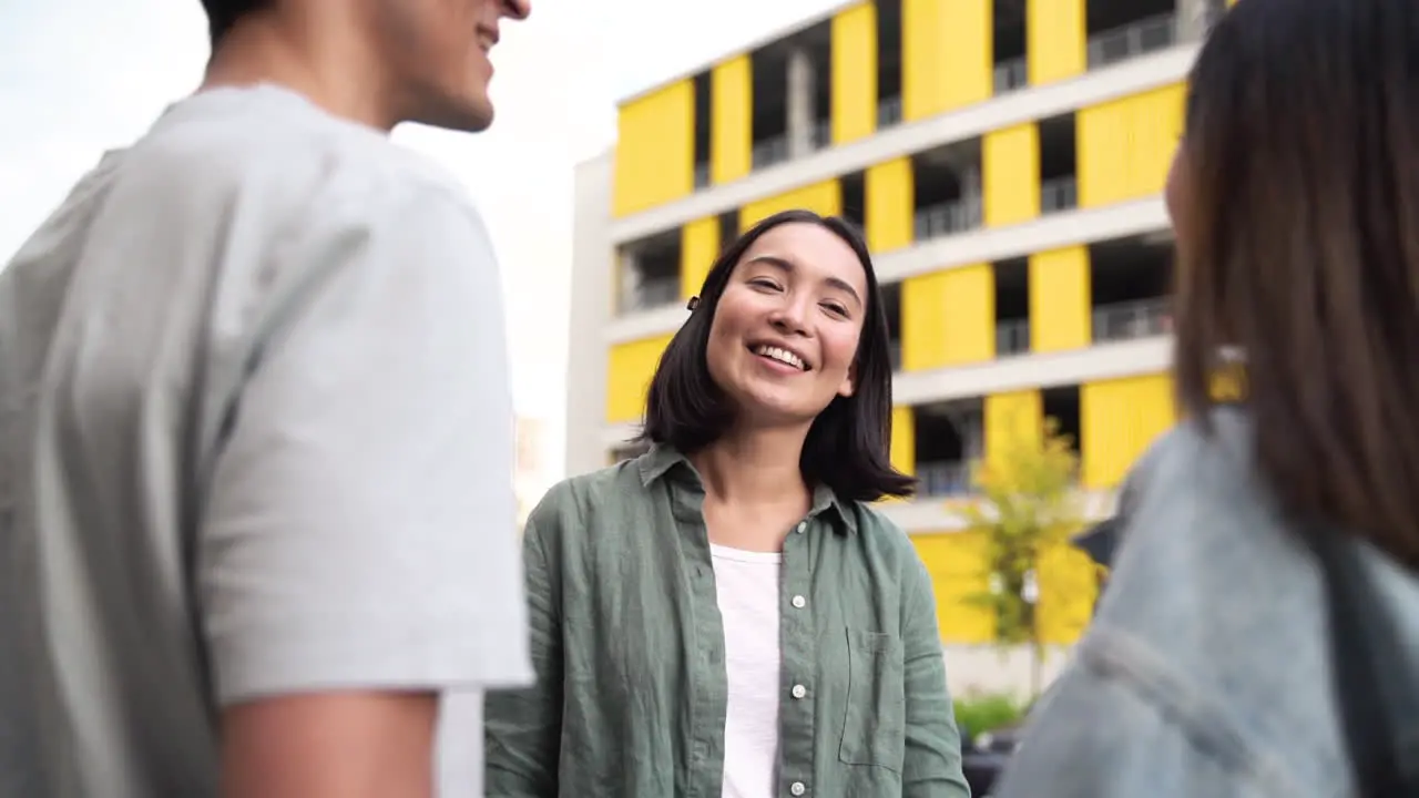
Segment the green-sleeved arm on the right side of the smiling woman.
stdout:
<svg viewBox="0 0 1419 798">
<path fill-rule="evenodd" d="M 961 770 L 961 731 L 946 690 L 946 665 L 937 626 L 931 575 L 910 551 L 902 584 L 907 748 L 901 781 L 905 798 L 969 798 Z"/>
</svg>

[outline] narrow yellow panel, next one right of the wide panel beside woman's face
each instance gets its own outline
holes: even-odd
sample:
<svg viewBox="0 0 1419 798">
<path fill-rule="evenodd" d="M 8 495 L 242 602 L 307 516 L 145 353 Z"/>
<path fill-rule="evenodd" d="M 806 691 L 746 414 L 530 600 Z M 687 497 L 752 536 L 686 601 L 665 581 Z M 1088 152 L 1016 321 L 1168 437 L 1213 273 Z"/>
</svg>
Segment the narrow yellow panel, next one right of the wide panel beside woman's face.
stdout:
<svg viewBox="0 0 1419 798">
<path fill-rule="evenodd" d="M 1088 247 L 1030 256 L 1030 351 L 1080 349 L 1090 341 Z"/>
</svg>

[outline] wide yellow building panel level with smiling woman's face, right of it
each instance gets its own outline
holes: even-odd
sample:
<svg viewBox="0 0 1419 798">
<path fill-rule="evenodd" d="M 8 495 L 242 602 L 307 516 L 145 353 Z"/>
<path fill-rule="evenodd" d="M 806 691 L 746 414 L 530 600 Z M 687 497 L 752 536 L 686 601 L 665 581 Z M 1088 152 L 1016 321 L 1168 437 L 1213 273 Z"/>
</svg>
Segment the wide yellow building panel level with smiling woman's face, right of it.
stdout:
<svg viewBox="0 0 1419 798">
<path fill-rule="evenodd" d="M 995 271 L 964 266 L 901 285 L 904 371 L 937 369 L 995 358 Z"/>
</svg>

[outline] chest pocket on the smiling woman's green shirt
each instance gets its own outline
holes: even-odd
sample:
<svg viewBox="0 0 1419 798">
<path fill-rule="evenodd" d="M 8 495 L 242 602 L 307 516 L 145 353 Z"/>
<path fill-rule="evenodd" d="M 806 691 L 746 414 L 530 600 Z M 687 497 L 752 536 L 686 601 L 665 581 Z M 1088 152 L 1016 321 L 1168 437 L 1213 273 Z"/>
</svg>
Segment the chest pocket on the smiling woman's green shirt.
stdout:
<svg viewBox="0 0 1419 798">
<path fill-rule="evenodd" d="M 847 629 L 847 713 L 839 760 L 901 772 L 905 737 L 901 638 Z"/>
</svg>

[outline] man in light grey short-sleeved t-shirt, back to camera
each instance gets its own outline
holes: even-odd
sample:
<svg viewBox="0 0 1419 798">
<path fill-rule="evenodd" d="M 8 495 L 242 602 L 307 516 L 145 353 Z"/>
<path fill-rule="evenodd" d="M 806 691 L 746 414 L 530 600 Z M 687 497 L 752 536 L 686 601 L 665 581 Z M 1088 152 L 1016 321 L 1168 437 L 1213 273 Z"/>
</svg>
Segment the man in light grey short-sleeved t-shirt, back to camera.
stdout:
<svg viewBox="0 0 1419 798">
<path fill-rule="evenodd" d="M 526 0 L 204 4 L 0 273 L 0 798 L 426 798 L 531 667 L 492 246 L 387 132 L 485 128 Z"/>
</svg>

